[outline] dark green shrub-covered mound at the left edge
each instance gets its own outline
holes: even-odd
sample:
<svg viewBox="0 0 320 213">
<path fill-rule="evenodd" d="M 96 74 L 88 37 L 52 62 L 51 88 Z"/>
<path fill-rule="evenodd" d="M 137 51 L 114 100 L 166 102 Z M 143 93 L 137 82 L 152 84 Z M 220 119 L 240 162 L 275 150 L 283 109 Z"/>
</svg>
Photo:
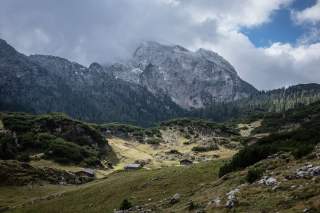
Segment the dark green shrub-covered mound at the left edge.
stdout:
<svg viewBox="0 0 320 213">
<path fill-rule="evenodd" d="M 59 163 L 93 166 L 106 156 L 103 135 L 64 114 L 1 113 L 1 121 L 9 131 L 0 135 L 0 159 L 27 161 L 24 153 L 45 153 L 45 158 Z"/>
</svg>

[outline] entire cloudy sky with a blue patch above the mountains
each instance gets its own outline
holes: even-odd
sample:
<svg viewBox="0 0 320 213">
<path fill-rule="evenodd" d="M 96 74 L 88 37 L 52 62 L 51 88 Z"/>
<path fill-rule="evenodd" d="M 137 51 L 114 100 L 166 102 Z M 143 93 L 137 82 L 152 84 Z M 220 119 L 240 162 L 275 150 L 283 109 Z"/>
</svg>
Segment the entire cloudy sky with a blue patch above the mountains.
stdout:
<svg viewBox="0 0 320 213">
<path fill-rule="evenodd" d="M 258 89 L 320 83 L 320 0 L 1 0 L 0 38 L 87 66 L 152 40 L 215 51 Z"/>
</svg>

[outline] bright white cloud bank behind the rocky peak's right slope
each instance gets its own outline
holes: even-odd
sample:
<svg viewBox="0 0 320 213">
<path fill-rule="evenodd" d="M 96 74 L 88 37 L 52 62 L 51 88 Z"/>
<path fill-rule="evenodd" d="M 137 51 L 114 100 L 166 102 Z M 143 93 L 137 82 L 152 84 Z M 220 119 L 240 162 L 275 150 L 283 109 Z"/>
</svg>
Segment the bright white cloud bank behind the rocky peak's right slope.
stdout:
<svg viewBox="0 0 320 213">
<path fill-rule="evenodd" d="M 196 46 L 217 51 L 229 60 L 240 76 L 258 89 L 320 82 L 320 44 L 293 47 L 275 43 L 256 48 L 248 38 L 230 31 L 216 43 L 198 41 Z"/>
</svg>

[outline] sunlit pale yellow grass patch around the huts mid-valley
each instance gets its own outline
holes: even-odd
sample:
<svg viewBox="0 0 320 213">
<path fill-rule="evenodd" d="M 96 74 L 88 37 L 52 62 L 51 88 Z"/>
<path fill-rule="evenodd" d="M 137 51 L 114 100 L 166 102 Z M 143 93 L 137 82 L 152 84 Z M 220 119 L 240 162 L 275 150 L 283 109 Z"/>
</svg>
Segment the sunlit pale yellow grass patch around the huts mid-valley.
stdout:
<svg viewBox="0 0 320 213">
<path fill-rule="evenodd" d="M 236 153 L 236 150 L 230 150 L 224 147 L 220 147 L 220 149 L 214 151 L 195 153 L 192 152 L 192 149 L 197 146 L 196 143 L 185 145 L 184 142 L 187 140 L 170 130 L 161 131 L 161 133 L 164 139 L 170 138 L 172 140 L 168 143 L 161 143 L 155 146 L 134 141 L 126 141 L 120 138 L 108 139 L 110 146 L 119 159 L 119 163 L 115 166 L 115 170 L 123 169 L 126 164 L 134 163 L 137 160 L 149 162 L 145 167 L 150 169 L 180 165 L 179 158 L 170 158 L 171 156 L 167 154 L 170 150 L 177 150 L 183 154 L 207 159 L 215 159 L 214 156 L 217 155 L 222 159 L 226 159 Z"/>
</svg>

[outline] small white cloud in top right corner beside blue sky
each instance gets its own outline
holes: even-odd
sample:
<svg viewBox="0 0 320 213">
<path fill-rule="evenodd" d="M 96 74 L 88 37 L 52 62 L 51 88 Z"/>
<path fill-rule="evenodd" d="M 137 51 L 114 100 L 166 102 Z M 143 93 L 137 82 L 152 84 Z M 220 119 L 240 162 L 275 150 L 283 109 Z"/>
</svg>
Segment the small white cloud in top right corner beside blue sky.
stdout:
<svg viewBox="0 0 320 213">
<path fill-rule="evenodd" d="M 302 11 L 293 11 L 293 18 L 297 23 L 305 22 L 315 24 L 320 21 L 320 0 L 316 4 Z"/>
</svg>

